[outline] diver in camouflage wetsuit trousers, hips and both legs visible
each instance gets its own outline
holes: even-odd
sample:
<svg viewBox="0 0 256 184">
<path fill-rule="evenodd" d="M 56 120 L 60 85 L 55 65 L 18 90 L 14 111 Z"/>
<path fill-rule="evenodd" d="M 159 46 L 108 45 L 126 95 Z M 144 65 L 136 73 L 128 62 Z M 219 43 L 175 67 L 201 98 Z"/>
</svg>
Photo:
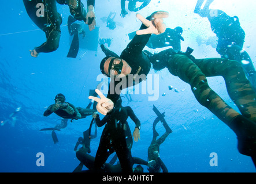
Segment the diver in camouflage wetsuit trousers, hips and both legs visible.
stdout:
<svg viewBox="0 0 256 184">
<path fill-rule="evenodd" d="M 166 67 L 171 74 L 188 83 L 197 101 L 236 133 L 239 152 L 251 156 L 256 164 L 256 94 L 244 74 L 242 64 L 221 58 L 195 59 L 189 49 L 178 52 L 170 48 L 154 55 L 149 51 L 144 52 L 155 70 Z M 206 76 L 224 78 L 229 97 L 242 115 L 210 88 Z"/>
</svg>

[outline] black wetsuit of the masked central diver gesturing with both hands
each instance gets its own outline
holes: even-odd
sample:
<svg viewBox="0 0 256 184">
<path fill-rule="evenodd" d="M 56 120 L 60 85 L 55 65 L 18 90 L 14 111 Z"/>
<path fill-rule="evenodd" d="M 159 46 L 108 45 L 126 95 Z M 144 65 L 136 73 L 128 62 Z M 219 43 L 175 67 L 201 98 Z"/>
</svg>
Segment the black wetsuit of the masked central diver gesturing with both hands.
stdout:
<svg viewBox="0 0 256 184">
<path fill-rule="evenodd" d="M 149 20 L 150 17 L 147 17 L 147 19 Z M 140 29 L 146 28 L 147 27 L 145 25 L 140 27 Z M 124 80 L 124 82 L 123 79 L 120 81 L 112 80 L 110 82 L 107 98 L 111 99 L 114 104 L 116 104 L 117 99 L 120 97 L 121 90 L 142 82 L 143 78 L 146 80 L 146 76 L 149 74 L 151 64 L 149 58 L 143 52 L 143 49 L 149 41 L 150 36 L 151 34 L 136 34 L 131 42 L 127 45 L 127 48 L 125 48 L 121 53 L 121 59 L 124 59 L 125 62 L 129 64 L 132 71 L 129 75 L 125 76 L 126 80 Z M 105 52 L 106 56 L 117 56 L 116 53 L 109 51 L 108 49 L 103 49 L 103 52 Z M 133 78 L 133 76 L 136 76 L 136 74 L 138 74 L 137 77 Z M 120 82 L 123 83 L 124 86 L 120 85 Z M 120 89 L 116 89 L 117 85 L 120 85 Z"/>
</svg>

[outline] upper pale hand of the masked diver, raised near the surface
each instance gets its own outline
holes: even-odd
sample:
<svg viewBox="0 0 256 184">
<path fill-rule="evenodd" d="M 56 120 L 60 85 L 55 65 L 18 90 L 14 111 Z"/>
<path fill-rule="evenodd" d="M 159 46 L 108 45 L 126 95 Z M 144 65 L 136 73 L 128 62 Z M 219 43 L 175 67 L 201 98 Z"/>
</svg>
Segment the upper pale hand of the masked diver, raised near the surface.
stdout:
<svg viewBox="0 0 256 184">
<path fill-rule="evenodd" d="M 136 14 L 136 17 L 147 26 L 147 29 L 137 30 L 136 34 L 161 34 L 164 33 L 166 29 L 163 18 L 169 17 L 169 13 L 167 11 L 155 11 L 150 16 L 151 21 L 147 20 L 139 13 Z"/>
</svg>

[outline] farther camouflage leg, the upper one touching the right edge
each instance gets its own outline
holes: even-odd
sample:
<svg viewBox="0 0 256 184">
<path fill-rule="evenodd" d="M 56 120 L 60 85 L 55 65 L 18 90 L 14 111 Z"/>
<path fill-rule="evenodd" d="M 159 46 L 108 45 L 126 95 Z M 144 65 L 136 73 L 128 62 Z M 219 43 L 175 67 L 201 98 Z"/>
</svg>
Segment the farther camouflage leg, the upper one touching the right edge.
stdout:
<svg viewBox="0 0 256 184">
<path fill-rule="evenodd" d="M 194 62 L 206 76 L 222 76 L 229 97 L 243 116 L 256 121 L 256 94 L 239 62 L 220 58 L 196 59 Z"/>
</svg>

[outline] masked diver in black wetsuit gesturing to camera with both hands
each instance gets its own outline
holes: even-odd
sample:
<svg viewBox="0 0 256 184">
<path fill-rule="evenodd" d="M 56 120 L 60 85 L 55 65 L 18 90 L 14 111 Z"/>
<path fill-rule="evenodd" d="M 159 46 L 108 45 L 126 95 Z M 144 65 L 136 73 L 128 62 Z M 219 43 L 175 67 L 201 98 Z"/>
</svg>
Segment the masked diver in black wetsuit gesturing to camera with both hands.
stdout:
<svg viewBox="0 0 256 184">
<path fill-rule="evenodd" d="M 147 19 L 140 14 L 136 14 L 136 16 L 143 22 L 136 36 L 127 45 L 127 48 L 124 49 L 120 57 L 116 53 L 111 52 L 113 57 L 107 55 L 100 64 L 103 74 L 114 77 L 110 82 L 107 98 L 99 90 L 95 91 L 97 91 L 101 98 L 89 97 L 89 99 L 94 99 L 94 101 L 98 102 L 97 110 L 103 115 L 106 115 L 113 109 L 114 104 L 116 104 L 117 99 L 120 97 L 121 90 L 146 80 L 151 64 L 149 58 L 147 58 L 142 50 L 152 33 L 159 34 L 166 29 L 162 23 L 162 18 L 168 17 L 168 13 L 165 11 L 157 11 L 147 17 Z M 105 47 L 102 48 L 103 52 L 109 52 Z M 121 79 L 121 82 L 116 82 L 118 79 Z M 120 85 L 119 89 L 116 88 L 117 85 Z"/>
</svg>

